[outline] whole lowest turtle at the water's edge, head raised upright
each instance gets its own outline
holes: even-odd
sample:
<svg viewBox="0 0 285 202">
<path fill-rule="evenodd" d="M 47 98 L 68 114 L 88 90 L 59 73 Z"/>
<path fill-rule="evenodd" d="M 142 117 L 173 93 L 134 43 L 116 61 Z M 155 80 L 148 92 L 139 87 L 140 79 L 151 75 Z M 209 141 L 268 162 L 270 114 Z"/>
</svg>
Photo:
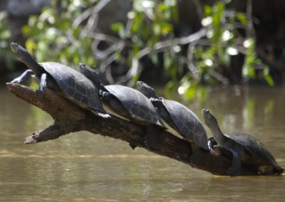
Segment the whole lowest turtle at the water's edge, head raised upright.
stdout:
<svg viewBox="0 0 285 202">
<path fill-rule="evenodd" d="M 211 151 L 217 151 L 224 156 L 232 157 L 232 166 L 228 169 L 229 176 L 241 174 L 241 166 L 247 166 L 257 174 L 279 175 L 284 169 L 274 159 L 274 156 L 259 139 L 249 134 L 232 132 L 223 134 L 214 115 L 209 110 L 203 109 L 204 123 L 212 132 L 208 145 Z"/>
</svg>

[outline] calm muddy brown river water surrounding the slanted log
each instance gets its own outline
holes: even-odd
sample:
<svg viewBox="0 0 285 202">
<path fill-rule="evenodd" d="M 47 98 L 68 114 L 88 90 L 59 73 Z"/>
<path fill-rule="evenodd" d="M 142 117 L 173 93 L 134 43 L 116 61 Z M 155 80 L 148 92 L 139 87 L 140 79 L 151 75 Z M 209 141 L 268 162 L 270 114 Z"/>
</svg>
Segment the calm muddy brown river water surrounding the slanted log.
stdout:
<svg viewBox="0 0 285 202">
<path fill-rule="evenodd" d="M 212 176 L 98 134 L 25 145 L 51 117 L 5 87 L 0 99 L 0 201 L 284 201 L 285 176 Z M 285 167 L 284 87 L 220 87 L 184 103 L 257 137 Z"/>
</svg>

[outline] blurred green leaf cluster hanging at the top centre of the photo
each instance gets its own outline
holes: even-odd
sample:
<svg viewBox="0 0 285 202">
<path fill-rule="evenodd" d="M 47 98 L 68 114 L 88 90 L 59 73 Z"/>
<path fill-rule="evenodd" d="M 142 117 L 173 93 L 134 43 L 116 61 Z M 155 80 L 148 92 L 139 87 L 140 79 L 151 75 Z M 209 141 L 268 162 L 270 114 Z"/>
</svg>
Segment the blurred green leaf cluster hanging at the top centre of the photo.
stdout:
<svg viewBox="0 0 285 202">
<path fill-rule="evenodd" d="M 114 23 L 111 28 L 120 38 L 132 42 L 128 52 L 128 65 L 145 47 L 152 48 L 163 38 L 174 38 L 172 21 L 177 21 L 177 1 L 134 0 L 133 9 L 128 13 L 129 24 Z M 157 55 L 149 54 L 153 63 L 158 64 Z"/>
</svg>

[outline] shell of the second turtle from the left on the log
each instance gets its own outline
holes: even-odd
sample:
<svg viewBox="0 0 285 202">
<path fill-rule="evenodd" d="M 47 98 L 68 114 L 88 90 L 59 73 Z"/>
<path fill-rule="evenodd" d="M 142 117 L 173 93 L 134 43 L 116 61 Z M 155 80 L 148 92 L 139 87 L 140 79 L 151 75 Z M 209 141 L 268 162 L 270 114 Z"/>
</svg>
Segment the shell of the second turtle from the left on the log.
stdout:
<svg viewBox="0 0 285 202">
<path fill-rule="evenodd" d="M 105 87 L 120 100 L 133 119 L 146 124 L 151 123 L 163 126 L 155 107 L 141 92 L 123 85 L 106 85 Z"/>
</svg>

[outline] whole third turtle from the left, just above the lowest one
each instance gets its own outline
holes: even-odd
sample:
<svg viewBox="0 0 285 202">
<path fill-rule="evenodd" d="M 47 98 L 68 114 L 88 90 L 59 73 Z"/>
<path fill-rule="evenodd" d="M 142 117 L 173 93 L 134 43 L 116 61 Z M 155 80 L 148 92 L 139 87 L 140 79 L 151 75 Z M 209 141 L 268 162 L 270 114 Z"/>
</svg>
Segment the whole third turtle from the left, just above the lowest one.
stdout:
<svg viewBox="0 0 285 202">
<path fill-rule="evenodd" d="M 208 150 L 207 133 L 199 118 L 192 110 L 180 102 L 158 97 L 155 90 L 142 81 L 137 82 L 137 87 L 142 94 L 150 99 L 150 102 L 155 106 L 170 132 L 179 134 L 187 142 L 194 142 L 194 147 Z"/>
</svg>

